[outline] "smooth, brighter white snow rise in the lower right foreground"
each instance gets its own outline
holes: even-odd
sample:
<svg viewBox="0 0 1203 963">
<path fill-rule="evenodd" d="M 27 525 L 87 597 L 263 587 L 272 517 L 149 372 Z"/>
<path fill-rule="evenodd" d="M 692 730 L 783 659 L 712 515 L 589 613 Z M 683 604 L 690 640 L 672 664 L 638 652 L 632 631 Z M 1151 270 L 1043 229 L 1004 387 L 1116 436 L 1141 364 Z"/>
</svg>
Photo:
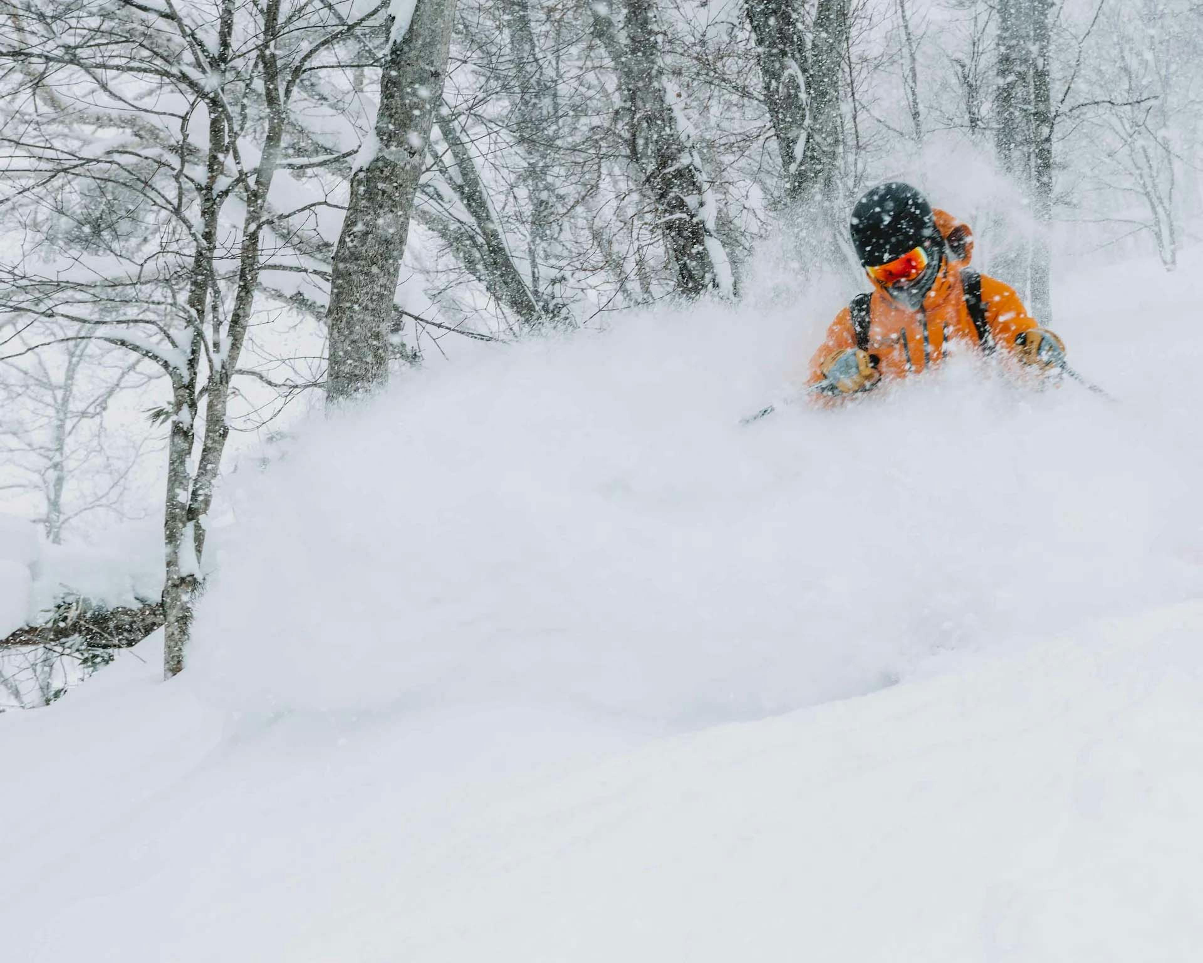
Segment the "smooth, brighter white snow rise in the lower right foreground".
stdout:
<svg viewBox="0 0 1203 963">
<path fill-rule="evenodd" d="M 290 958 L 1197 959 L 1201 633 L 1096 625 L 515 793 Z"/>
</svg>

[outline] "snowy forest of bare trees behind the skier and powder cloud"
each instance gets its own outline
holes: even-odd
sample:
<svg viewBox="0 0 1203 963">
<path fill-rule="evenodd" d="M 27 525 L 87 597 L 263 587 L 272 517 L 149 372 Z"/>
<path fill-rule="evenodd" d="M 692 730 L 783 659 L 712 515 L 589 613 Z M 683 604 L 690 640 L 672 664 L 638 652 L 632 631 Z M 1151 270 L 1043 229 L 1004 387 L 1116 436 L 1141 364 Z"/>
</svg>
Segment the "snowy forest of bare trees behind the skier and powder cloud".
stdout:
<svg viewBox="0 0 1203 963">
<path fill-rule="evenodd" d="M 300 413 L 737 301 L 770 246 L 855 284 L 884 177 L 974 181 L 1044 321 L 1054 271 L 1198 241 L 1185 0 L 5 6 L 0 490 L 54 547 L 161 520 L 166 559 L 135 605 L 42 598 L 10 703 L 160 625 L 178 672 L 221 479 Z"/>
</svg>

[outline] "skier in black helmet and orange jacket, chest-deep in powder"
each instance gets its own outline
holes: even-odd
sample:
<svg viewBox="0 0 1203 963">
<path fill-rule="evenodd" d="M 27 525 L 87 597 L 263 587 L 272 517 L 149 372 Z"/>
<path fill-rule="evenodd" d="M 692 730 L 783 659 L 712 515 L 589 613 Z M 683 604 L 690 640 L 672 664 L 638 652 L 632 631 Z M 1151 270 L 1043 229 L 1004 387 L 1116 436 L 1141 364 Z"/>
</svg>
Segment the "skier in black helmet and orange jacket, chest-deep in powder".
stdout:
<svg viewBox="0 0 1203 963">
<path fill-rule="evenodd" d="M 873 283 L 836 315 L 807 383 L 843 397 L 937 365 L 954 344 L 1007 355 L 1045 373 L 1065 343 L 1039 327 L 1019 295 L 970 267 L 973 235 L 909 184 L 879 184 L 852 211 L 852 241 Z"/>
</svg>

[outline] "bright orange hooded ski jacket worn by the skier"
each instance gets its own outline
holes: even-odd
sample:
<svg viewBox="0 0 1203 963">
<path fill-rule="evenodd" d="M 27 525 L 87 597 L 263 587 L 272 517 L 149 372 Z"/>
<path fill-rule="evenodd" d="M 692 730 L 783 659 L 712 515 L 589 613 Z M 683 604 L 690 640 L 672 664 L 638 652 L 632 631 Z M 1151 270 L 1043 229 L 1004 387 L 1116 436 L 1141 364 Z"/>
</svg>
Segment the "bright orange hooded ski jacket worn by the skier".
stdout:
<svg viewBox="0 0 1203 963">
<path fill-rule="evenodd" d="M 948 243 L 944 262 L 923 299 L 923 308 L 912 311 L 903 307 L 881 288 L 873 291 L 869 303 L 869 353 L 881 359 L 878 370 L 883 378 L 903 378 L 938 364 L 944 356 L 946 344 L 960 342 L 976 348 L 979 343 L 961 288 L 961 268 L 973 256 L 973 235 L 967 225 L 944 211 L 932 213 L 946 242 L 950 234 L 956 231 L 956 235 Z M 1036 319 L 1027 313 L 1019 295 L 1001 280 L 985 274 L 982 274 L 982 302 L 994 343 L 1003 350 L 1013 351 L 1015 335 L 1036 327 Z M 836 315 L 826 338 L 811 359 L 807 384 L 823 380 L 819 366 L 832 351 L 855 347 L 852 313 L 846 307 Z"/>
</svg>

